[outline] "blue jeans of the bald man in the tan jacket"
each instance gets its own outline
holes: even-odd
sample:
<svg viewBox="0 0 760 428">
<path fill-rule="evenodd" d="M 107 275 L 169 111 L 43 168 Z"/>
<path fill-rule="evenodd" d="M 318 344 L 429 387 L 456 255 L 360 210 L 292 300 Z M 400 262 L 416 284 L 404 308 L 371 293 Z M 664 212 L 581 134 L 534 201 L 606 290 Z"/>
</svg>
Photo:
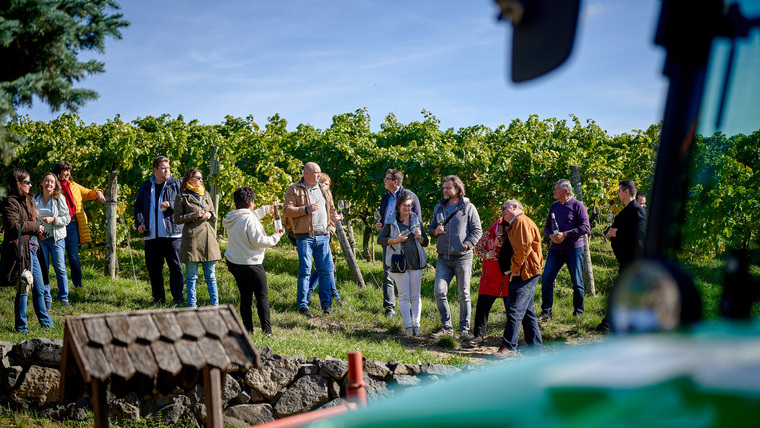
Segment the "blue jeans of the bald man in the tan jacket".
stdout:
<svg viewBox="0 0 760 428">
<path fill-rule="evenodd" d="M 317 268 L 319 278 L 319 302 L 323 308 L 332 306 L 331 290 L 335 286 L 332 274 L 332 253 L 330 253 L 330 237 L 327 235 L 314 236 L 296 240 L 298 250 L 298 290 L 296 303 L 299 308 L 308 308 L 309 279 L 311 277 L 311 260 Z"/>
</svg>

